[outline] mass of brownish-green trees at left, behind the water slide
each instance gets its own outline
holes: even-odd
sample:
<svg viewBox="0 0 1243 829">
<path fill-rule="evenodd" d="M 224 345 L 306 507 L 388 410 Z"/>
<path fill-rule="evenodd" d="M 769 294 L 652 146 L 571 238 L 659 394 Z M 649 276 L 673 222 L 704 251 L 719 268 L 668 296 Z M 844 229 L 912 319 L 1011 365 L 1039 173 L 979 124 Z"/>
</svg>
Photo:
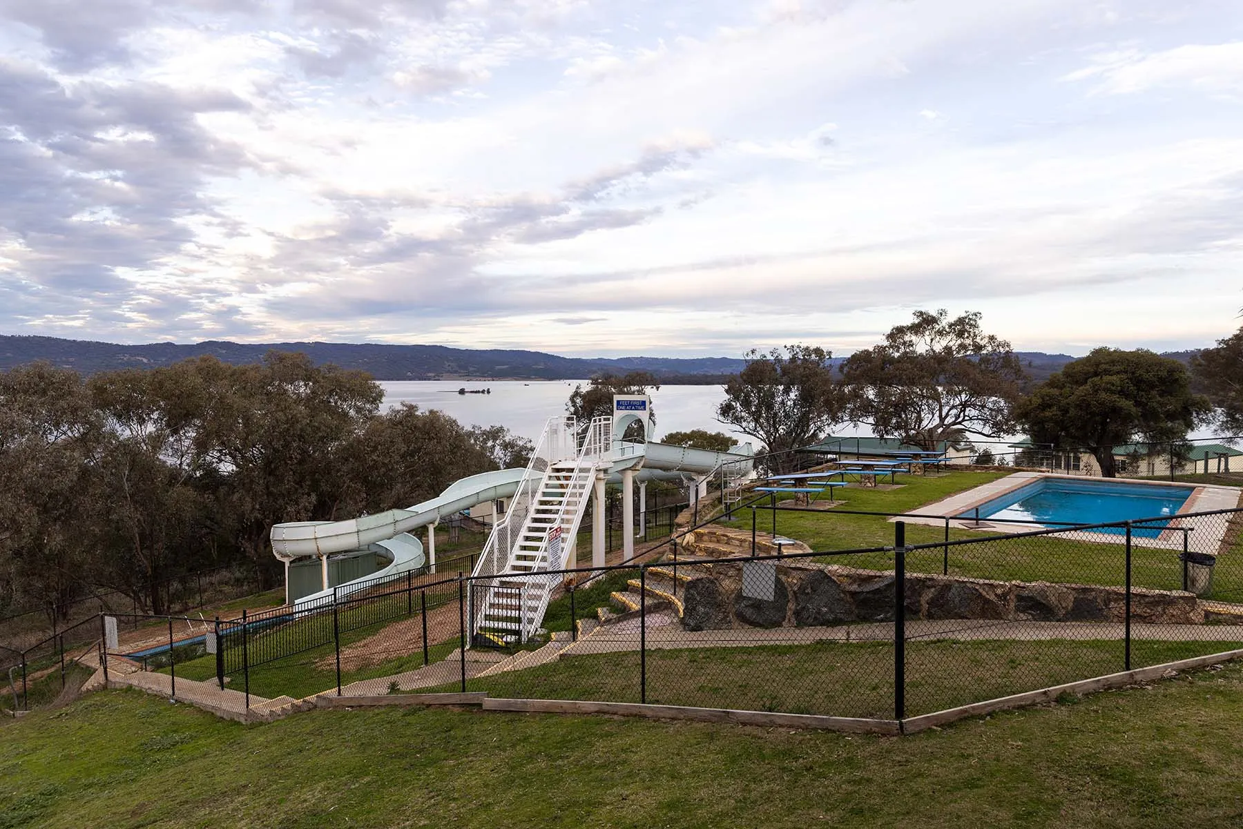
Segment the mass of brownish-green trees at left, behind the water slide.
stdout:
<svg viewBox="0 0 1243 829">
<path fill-rule="evenodd" d="M 531 452 L 501 426 L 380 400 L 362 372 L 278 352 L 88 382 L 0 373 L 0 613 L 94 588 L 162 613 L 165 579 L 237 562 L 273 582 L 273 523 L 406 507 Z"/>
</svg>

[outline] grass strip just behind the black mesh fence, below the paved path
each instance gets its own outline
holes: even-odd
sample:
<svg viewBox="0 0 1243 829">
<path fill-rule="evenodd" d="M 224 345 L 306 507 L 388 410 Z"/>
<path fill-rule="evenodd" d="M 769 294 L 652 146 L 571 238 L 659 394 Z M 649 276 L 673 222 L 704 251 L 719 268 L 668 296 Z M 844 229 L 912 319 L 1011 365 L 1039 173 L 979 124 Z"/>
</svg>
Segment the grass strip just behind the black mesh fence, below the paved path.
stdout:
<svg viewBox="0 0 1243 829">
<path fill-rule="evenodd" d="M 774 640 L 778 635 L 774 633 Z M 1134 643 L 1132 667 L 1212 654 L 1232 643 Z M 467 680 L 496 697 L 639 702 L 638 651 L 564 656 Z M 915 640 L 906 645 L 906 716 L 1124 670 L 1121 641 Z M 429 689 L 457 690 L 456 684 Z M 894 716 L 889 643 L 649 650 L 646 701 L 840 717 Z"/>
</svg>

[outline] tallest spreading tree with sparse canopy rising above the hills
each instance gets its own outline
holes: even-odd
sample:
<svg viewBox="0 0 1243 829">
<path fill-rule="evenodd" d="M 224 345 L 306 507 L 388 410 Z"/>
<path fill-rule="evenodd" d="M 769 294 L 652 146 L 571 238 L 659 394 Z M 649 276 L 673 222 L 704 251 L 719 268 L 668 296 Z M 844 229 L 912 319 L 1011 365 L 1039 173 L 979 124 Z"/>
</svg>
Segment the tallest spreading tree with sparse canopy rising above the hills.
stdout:
<svg viewBox="0 0 1243 829">
<path fill-rule="evenodd" d="M 984 333 L 978 312 L 916 311 L 842 365 L 851 420 L 927 450 L 961 444 L 968 431 L 1004 435 L 1022 379 L 1011 344 Z"/>
</svg>

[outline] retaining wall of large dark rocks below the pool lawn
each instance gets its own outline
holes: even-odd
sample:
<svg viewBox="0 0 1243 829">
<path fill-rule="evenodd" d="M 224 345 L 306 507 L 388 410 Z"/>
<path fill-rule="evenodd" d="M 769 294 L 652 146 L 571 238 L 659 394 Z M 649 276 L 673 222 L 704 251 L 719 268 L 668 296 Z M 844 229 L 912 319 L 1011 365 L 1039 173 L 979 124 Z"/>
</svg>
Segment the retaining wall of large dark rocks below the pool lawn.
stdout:
<svg viewBox="0 0 1243 829">
<path fill-rule="evenodd" d="M 750 537 L 748 551 L 750 551 Z M 798 628 L 894 618 L 892 572 L 815 562 L 778 564 L 773 599 L 742 595 L 742 564 L 696 568 L 682 594 L 690 630 Z M 907 574 L 909 619 L 998 619 L 1008 621 L 1124 621 L 1120 587 L 993 582 L 955 575 Z M 1191 593 L 1131 589 L 1131 620 L 1203 624 Z"/>
</svg>

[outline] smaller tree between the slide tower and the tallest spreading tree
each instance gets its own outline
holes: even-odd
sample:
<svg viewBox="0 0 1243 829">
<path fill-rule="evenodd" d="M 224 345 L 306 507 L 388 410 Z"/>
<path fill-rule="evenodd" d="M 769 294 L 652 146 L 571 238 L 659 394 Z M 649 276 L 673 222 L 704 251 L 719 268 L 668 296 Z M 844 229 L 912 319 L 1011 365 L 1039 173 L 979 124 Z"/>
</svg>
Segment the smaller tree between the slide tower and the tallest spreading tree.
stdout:
<svg viewBox="0 0 1243 829">
<path fill-rule="evenodd" d="M 762 440 L 769 452 L 814 444 L 842 423 L 845 400 L 829 352 L 798 344 L 784 353 L 752 349 L 746 358 L 725 385 L 717 420 Z"/>
</svg>

